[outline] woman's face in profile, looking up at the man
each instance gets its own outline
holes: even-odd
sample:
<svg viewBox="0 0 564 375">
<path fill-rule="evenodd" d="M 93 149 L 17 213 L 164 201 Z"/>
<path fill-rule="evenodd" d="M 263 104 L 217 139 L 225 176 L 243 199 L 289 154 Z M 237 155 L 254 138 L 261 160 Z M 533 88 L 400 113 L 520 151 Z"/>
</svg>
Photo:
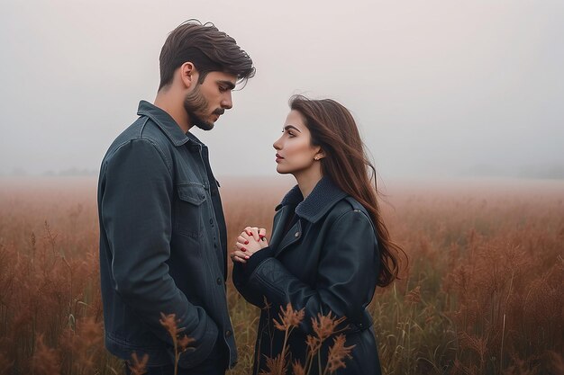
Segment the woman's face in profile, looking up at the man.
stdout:
<svg viewBox="0 0 564 375">
<path fill-rule="evenodd" d="M 314 158 L 321 157 L 321 147 L 312 146 L 311 140 L 311 133 L 301 113 L 290 111 L 282 129 L 282 137 L 272 145 L 277 150 L 277 173 L 301 173 L 318 163 Z"/>
</svg>

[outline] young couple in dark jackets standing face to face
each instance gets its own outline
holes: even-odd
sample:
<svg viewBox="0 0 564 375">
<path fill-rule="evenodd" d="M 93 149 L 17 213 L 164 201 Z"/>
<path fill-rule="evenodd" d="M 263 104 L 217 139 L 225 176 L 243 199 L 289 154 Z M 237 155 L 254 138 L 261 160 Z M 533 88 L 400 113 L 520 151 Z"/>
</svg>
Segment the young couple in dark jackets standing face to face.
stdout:
<svg viewBox="0 0 564 375">
<path fill-rule="evenodd" d="M 305 362 L 311 318 L 331 312 L 343 319 L 346 346 L 354 345 L 337 373 L 379 374 L 365 308 L 377 286 L 396 278 L 401 249 L 388 237 L 368 174 L 374 168 L 346 108 L 330 99 L 291 98 L 273 146 L 277 172 L 293 174 L 297 185 L 278 205 L 271 234 L 250 223 L 236 244 L 227 243 L 208 148 L 190 130 L 213 129 L 232 108 L 232 89 L 254 73 L 249 55 L 213 24 L 191 20 L 168 35 L 155 102 L 141 101 L 139 119 L 114 140 L 101 165 L 106 348 L 124 360 L 148 354 L 149 374 L 172 374 L 175 346 L 161 319 L 174 314 L 182 335 L 193 340 L 177 359 L 178 373 L 232 368 L 230 248 L 236 288 L 262 308 L 255 373 L 266 370 L 267 356 L 282 352 L 285 335 L 273 318 L 290 303 L 305 317 L 286 342 L 288 359 Z"/>
</svg>

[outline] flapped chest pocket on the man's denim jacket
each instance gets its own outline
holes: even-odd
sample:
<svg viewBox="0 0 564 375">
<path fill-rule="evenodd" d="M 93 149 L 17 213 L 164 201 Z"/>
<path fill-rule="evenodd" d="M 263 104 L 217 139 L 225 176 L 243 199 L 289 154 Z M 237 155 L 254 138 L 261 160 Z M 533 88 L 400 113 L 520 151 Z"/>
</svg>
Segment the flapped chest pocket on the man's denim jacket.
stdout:
<svg viewBox="0 0 564 375">
<path fill-rule="evenodd" d="M 202 236 L 206 200 L 204 185 L 198 183 L 177 185 L 177 198 L 175 231 L 188 237 Z"/>
</svg>

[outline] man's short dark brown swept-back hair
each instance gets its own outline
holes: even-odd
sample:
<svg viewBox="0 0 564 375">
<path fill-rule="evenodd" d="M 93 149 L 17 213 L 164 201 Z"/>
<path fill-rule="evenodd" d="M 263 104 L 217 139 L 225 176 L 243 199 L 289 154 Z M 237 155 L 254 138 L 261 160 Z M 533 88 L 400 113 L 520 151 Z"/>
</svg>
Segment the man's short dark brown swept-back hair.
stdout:
<svg viewBox="0 0 564 375">
<path fill-rule="evenodd" d="M 197 20 L 181 23 L 168 34 L 160 50 L 159 90 L 172 83 L 174 71 L 190 61 L 199 73 L 198 83 L 204 82 L 209 72 L 221 71 L 246 81 L 255 75 L 255 68 L 247 52 L 212 22 L 202 24 Z"/>
</svg>

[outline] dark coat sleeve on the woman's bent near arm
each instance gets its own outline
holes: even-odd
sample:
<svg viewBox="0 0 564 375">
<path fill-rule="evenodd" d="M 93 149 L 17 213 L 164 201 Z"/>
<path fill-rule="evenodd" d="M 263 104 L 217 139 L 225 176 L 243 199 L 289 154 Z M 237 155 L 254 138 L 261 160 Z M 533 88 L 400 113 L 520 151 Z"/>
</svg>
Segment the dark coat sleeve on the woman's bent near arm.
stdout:
<svg viewBox="0 0 564 375">
<path fill-rule="evenodd" d="M 365 213 L 347 211 L 327 233 L 314 271 L 315 285 L 297 279 L 275 257 L 266 257 L 254 269 L 247 270 L 248 278 L 243 279 L 241 287 L 255 301 L 264 296 L 277 309 L 286 307 L 288 302 L 294 309 L 305 308 L 300 327 L 307 334 L 312 332 L 311 318 L 319 313 L 327 315 L 332 311 L 337 317 L 347 317 L 349 322 L 361 322 L 378 280 L 377 239 Z"/>
</svg>

